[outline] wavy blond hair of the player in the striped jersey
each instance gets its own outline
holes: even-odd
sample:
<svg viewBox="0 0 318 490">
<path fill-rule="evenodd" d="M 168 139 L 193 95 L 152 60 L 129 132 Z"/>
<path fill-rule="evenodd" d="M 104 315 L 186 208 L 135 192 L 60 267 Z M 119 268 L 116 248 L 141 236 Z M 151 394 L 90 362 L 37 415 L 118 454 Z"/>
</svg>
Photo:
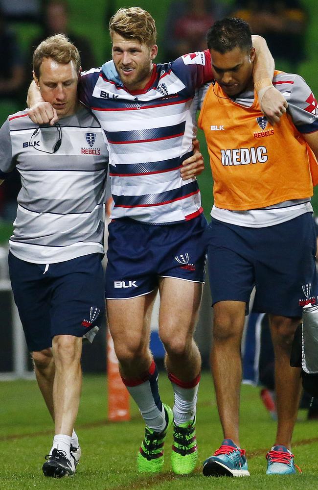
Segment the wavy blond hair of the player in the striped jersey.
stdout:
<svg viewBox="0 0 318 490">
<path fill-rule="evenodd" d="M 156 44 L 157 30 L 153 17 L 140 7 L 120 8 L 110 20 L 109 30 L 127 39 L 137 39 L 148 47 Z"/>
</svg>

